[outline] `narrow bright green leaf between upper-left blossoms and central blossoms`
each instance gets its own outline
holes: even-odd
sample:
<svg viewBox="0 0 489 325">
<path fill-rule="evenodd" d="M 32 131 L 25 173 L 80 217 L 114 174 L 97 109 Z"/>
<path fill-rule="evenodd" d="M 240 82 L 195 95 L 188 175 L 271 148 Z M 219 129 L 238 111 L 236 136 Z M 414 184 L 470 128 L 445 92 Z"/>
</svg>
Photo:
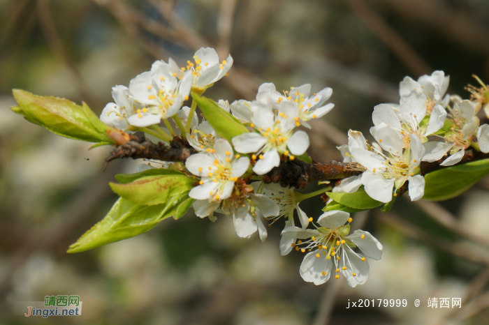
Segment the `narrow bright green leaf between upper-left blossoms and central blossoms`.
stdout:
<svg viewBox="0 0 489 325">
<path fill-rule="evenodd" d="M 238 119 L 221 109 L 213 100 L 204 96 L 199 97 L 196 93 L 192 93 L 192 97 L 204 113 L 205 119 L 223 139 L 231 141 L 233 137 L 249 132 Z"/>
</svg>

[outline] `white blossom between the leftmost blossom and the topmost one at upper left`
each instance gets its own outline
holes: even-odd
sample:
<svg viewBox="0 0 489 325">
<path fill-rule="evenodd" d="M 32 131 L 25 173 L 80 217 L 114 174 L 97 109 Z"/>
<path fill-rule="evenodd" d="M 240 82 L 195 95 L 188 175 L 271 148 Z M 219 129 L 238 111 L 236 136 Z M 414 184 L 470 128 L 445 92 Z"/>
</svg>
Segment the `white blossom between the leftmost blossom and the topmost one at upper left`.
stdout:
<svg viewBox="0 0 489 325">
<path fill-rule="evenodd" d="M 139 127 L 151 126 L 177 114 L 184 100 L 189 98 L 191 82 L 191 73 L 184 73 L 179 79 L 167 63 L 154 62 L 151 71 L 141 73 L 129 83 L 131 96 L 145 105 L 129 116 L 129 123 Z"/>
</svg>

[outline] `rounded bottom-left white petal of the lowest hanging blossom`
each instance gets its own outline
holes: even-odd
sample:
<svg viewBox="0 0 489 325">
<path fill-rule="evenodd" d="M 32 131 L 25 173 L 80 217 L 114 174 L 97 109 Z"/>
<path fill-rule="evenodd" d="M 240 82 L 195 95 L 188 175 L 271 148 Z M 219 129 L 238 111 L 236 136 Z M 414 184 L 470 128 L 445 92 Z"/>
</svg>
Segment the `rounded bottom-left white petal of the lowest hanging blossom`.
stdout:
<svg viewBox="0 0 489 325">
<path fill-rule="evenodd" d="M 318 258 L 316 254 L 319 254 L 318 250 L 314 250 L 305 255 L 302 264 L 300 264 L 300 276 L 305 282 L 322 285 L 330 278 L 333 263 L 331 259 L 326 259 L 324 255 L 319 254 L 320 256 Z M 326 272 L 326 275 L 323 275 L 323 272 Z"/>
</svg>

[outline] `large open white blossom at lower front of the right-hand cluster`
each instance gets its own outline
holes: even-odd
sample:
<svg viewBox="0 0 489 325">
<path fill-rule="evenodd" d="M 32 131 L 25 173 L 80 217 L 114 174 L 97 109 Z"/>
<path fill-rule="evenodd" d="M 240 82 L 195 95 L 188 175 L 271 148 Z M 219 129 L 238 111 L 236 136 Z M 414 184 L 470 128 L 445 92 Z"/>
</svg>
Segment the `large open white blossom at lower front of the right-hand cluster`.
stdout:
<svg viewBox="0 0 489 325">
<path fill-rule="evenodd" d="M 419 164 L 425 153 L 421 140 L 411 134 L 409 147 L 403 151 L 402 137 L 392 128 L 381 128 L 375 135 L 382 149 L 388 152 L 388 157 L 379 151 L 350 148 L 353 158 L 367 169 L 362 174 L 365 192 L 372 199 L 388 203 L 391 202 L 393 189 L 397 192 L 409 181 L 411 201 L 421 199 L 425 190 L 425 179 L 419 175 Z M 358 137 L 363 138 L 363 135 Z"/>
</svg>

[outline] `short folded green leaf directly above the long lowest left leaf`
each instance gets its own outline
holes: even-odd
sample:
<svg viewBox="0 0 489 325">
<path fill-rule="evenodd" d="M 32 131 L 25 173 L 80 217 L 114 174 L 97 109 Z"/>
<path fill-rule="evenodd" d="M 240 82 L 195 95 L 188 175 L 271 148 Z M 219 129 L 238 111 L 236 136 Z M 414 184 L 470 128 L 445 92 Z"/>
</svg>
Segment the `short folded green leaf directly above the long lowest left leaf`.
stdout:
<svg viewBox="0 0 489 325">
<path fill-rule="evenodd" d="M 169 197 L 191 190 L 194 179 L 189 176 L 145 176 L 126 184 L 109 183 L 119 196 L 136 204 L 155 205 L 165 203 Z"/>
</svg>

